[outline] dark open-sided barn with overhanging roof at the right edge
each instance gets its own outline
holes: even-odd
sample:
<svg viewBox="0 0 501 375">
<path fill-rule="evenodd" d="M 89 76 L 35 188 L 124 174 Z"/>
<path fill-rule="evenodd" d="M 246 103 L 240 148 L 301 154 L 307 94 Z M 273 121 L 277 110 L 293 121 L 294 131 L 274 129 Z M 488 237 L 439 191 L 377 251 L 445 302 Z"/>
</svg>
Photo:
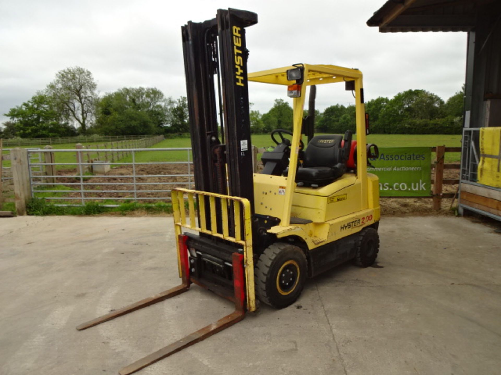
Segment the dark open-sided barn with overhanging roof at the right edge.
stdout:
<svg viewBox="0 0 501 375">
<path fill-rule="evenodd" d="M 459 211 L 501 220 L 501 0 L 388 0 L 380 32 L 467 32 Z"/>
</svg>

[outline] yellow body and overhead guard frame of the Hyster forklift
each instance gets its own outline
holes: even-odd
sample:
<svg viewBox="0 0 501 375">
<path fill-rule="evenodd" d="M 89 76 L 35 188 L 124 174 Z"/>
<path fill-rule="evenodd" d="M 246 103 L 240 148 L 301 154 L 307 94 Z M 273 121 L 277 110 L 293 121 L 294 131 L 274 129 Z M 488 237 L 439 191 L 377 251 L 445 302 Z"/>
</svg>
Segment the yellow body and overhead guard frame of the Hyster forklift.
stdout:
<svg viewBox="0 0 501 375">
<path fill-rule="evenodd" d="M 289 85 L 287 70 L 294 66 L 249 73 L 248 80 Z M 357 113 L 357 140 L 366 143 L 365 108 L 361 100 L 362 73 L 336 65 L 304 64 L 305 81 L 301 96 L 293 102 L 293 139 L 291 149 L 297 150 L 303 123 L 305 87 L 353 80 L 355 82 L 355 107 Z M 328 143 L 333 140 L 324 140 Z M 378 177 L 367 173 L 367 152 L 357 147 L 357 170 L 345 173 L 322 187 L 297 186 L 295 182 L 297 152 L 291 152 L 289 176 L 254 175 L 255 211 L 275 216 L 280 224 L 268 230 L 277 238 L 299 237 L 314 249 L 326 243 L 357 233 L 380 219 Z M 284 188 L 285 187 L 285 188 Z M 284 195 L 283 195 L 284 194 Z M 293 224 L 291 217 L 296 218 Z M 297 220 L 302 219 L 302 220 Z M 304 222 L 296 224 L 296 222 Z"/>
</svg>

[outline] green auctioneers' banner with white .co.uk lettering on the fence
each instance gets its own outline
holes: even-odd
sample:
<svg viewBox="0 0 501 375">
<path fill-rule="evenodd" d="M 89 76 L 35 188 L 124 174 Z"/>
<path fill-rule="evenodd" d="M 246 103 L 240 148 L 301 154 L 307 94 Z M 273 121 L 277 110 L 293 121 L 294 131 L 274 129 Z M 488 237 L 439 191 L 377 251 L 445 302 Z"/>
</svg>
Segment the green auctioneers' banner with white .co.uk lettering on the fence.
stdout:
<svg viewBox="0 0 501 375">
<path fill-rule="evenodd" d="M 381 196 L 429 196 L 431 191 L 430 147 L 380 148 L 369 173 L 379 177 Z"/>
</svg>

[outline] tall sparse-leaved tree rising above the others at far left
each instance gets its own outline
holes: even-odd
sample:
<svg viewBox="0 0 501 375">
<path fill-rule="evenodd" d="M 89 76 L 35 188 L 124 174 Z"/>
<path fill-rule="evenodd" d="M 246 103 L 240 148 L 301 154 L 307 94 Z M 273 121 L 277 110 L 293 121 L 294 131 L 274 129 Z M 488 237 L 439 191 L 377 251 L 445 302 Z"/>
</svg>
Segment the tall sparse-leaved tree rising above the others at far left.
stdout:
<svg viewBox="0 0 501 375">
<path fill-rule="evenodd" d="M 47 86 L 47 93 L 68 122 L 78 124 L 80 132 L 85 134 L 94 120 L 96 88 L 92 73 L 75 66 L 58 71 L 56 79 Z"/>
</svg>

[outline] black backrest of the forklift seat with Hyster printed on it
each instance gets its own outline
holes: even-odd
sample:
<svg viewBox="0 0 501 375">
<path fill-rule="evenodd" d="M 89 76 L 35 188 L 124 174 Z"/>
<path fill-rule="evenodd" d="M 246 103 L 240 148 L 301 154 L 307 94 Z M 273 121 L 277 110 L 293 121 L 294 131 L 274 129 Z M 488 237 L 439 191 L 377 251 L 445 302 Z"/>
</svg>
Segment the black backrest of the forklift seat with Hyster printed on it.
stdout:
<svg viewBox="0 0 501 375">
<path fill-rule="evenodd" d="M 327 166 L 333 167 L 343 163 L 342 135 L 316 135 L 308 143 L 305 151 L 304 167 Z"/>
</svg>

